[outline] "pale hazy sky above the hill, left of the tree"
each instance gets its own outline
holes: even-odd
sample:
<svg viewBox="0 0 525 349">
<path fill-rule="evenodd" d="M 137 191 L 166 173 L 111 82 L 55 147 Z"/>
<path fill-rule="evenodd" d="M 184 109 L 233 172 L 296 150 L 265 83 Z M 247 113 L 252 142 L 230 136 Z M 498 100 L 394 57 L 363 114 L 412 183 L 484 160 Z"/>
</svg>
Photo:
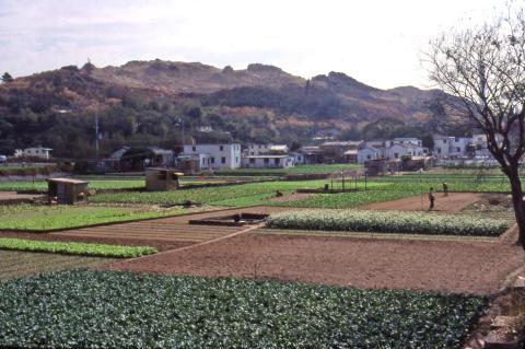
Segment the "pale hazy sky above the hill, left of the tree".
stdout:
<svg viewBox="0 0 525 349">
<path fill-rule="evenodd" d="M 429 88 L 430 38 L 504 0 L 0 0 L 0 71 L 154 58 L 305 78 L 341 71 L 370 85 Z"/>
</svg>

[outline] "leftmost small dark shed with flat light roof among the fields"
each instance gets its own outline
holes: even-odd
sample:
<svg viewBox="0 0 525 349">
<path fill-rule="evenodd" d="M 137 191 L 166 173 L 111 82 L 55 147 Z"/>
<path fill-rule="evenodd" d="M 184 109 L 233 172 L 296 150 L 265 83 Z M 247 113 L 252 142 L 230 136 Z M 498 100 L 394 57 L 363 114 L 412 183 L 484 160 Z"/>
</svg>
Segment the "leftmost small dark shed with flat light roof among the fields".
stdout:
<svg viewBox="0 0 525 349">
<path fill-rule="evenodd" d="M 88 198 L 88 182 L 73 178 L 48 178 L 47 194 L 57 203 L 74 205 Z"/>
</svg>

